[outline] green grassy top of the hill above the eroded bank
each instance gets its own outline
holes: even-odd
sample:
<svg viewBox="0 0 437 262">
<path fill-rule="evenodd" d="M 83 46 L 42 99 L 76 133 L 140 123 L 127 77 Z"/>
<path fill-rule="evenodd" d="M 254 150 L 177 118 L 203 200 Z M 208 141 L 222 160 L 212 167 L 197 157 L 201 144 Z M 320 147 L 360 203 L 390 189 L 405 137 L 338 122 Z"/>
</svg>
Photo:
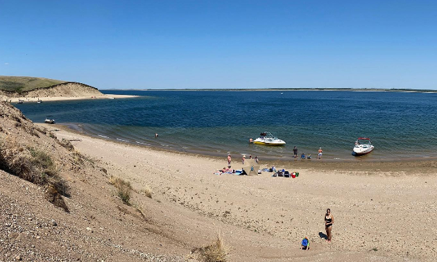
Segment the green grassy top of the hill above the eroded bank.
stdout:
<svg viewBox="0 0 437 262">
<path fill-rule="evenodd" d="M 0 90 L 4 91 L 31 91 L 41 87 L 62 84 L 62 80 L 48 78 L 32 78 L 28 76 L 0 76 Z"/>
</svg>

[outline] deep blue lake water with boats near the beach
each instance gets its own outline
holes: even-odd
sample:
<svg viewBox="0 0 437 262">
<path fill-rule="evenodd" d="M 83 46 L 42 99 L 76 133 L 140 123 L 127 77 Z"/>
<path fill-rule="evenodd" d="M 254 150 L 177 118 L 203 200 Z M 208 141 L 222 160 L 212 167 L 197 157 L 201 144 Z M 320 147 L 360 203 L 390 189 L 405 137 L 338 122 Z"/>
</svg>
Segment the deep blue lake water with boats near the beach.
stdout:
<svg viewBox="0 0 437 262">
<path fill-rule="evenodd" d="M 261 159 L 299 154 L 353 159 L 357 137 L 375 150 L 359 159 L 437 157 L 437 94 L 352 91 L 103 91 L 139 98 L 24 103 L 31 120 L 47 114 L 89 134 L 205 155 Z M 282 94 L 283 93 L 283 94 Z M 79 124 L 79 125 L 78 125 Z M 269 131 L 282 147 L 249 144 Z M 154 134 L 160 137 L 155 139 Z"/>
</svg>

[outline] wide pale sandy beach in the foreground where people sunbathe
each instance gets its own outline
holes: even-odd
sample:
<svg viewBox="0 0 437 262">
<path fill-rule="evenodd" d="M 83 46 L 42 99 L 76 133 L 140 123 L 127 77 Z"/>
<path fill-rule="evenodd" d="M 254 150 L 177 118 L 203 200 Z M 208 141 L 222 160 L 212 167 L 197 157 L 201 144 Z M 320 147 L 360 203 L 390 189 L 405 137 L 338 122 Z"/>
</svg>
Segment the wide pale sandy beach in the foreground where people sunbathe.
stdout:
<svg viewBox="0 0 437 262">
<path fill-rule="evenodd" d="M 44 125 L 49 130 L 58 126 Z M 131 146 L 55 131 L 108 173 L 140 191 L 150 186 L 162 212 L 191 246 L 222 232 L 230 261 L 435 261 L 437 162 L 266 162 L 299 177 L 213 175 L 223 159 Z M 162 139 L 161 137 L 158 139 Z M 234 156 L 232 167 L 241 168 Z M 325 241 L 323 216 L 335 218 Z M 190 234 L 187 234 L 190 232 Z M 201 236 L 201 237 L 200 237 Z M 299 250 L 307 236 L 311 250 Z"/>
</svg>

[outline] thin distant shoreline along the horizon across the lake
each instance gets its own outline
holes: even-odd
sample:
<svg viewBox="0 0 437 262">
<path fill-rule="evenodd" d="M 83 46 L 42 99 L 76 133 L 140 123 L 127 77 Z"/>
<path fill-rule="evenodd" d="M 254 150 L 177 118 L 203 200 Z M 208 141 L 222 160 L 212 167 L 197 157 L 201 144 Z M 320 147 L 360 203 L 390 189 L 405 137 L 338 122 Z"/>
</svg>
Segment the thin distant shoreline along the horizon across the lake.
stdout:
<svg viewBox="0 0 437 262">
<path fill-rule="evenodd" d="M 434 89 L 354 89 L 354 88 L 262 88 L 262 89 L 99 89 L 99 91 L 361 91 L 361 92 L 400 92 L 400 93 L 431 93 Z"/>
</svg>

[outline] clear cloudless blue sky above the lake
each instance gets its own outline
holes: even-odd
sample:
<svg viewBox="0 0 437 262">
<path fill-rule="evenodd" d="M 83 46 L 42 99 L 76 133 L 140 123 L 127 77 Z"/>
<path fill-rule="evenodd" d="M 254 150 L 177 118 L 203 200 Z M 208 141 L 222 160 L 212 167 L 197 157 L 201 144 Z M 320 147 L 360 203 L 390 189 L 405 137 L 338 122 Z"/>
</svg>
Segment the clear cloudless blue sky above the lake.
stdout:
<svg viewBox="0 0 437 262">
<path fill-rule="evenodd" d="M 0 75 L 98 89 L 437 89 L 437 1 L 0 0 Z"/>
</svg>

